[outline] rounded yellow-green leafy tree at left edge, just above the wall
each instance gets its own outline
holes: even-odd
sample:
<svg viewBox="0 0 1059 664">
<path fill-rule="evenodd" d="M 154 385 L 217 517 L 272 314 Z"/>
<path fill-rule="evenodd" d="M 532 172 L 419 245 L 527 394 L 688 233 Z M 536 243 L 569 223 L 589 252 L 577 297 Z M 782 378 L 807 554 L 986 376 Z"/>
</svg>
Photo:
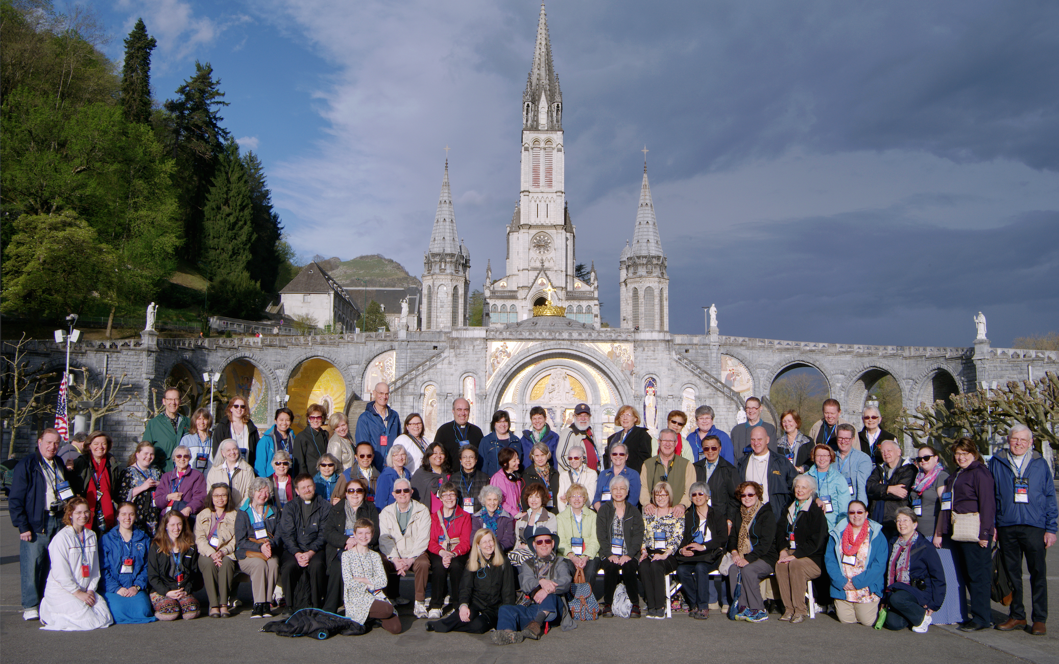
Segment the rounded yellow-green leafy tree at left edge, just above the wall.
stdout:
<svg viewBox="0 0 1059 664">
<path fill-rule="evenodd" d="M 114 251 L 98 244 L 95 231 L 72 211 L 20 217 L 3 258 L 5 313 L 80 313 L 106 302 L 119 279 Z"/>
</svg>

